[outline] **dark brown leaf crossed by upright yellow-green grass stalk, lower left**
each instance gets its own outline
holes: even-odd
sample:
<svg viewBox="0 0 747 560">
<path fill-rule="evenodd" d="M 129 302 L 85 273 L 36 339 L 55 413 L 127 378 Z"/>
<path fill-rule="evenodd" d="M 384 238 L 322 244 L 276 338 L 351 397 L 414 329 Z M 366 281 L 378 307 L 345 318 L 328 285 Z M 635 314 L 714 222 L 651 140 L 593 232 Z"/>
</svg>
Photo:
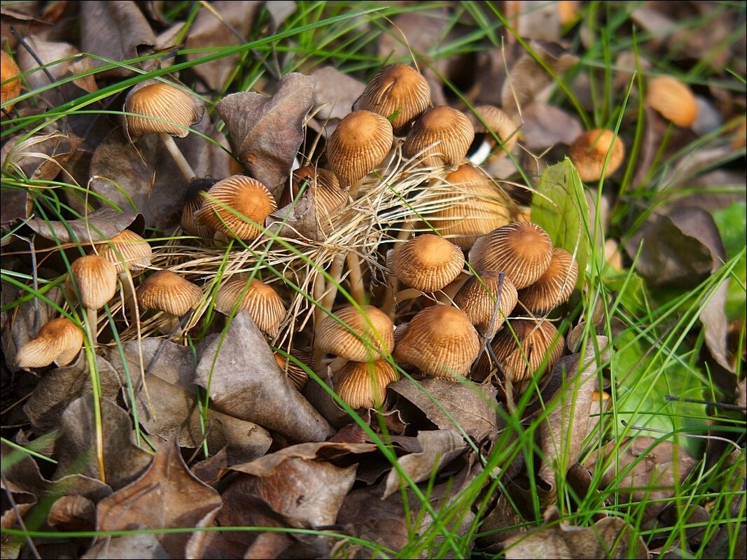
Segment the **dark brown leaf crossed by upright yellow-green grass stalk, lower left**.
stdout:
<svg viewBox="0 0 747 560">
<path fill-rule="evenodd" d="M 101 455 L 104 470 L 99 468 L 99 443 L 96 437 L 96 417 L 93 395 L 72 401 L 62 414 L 61 434 L 55 444 L 58 457 L 55 478 L 72 473 L 94 479 L 105 479 L 114 490 L 128 485 L 148 467 L 149 453 L 132 441 L 132 421 L 111 399 L 101 399 Z"/>
</svg>

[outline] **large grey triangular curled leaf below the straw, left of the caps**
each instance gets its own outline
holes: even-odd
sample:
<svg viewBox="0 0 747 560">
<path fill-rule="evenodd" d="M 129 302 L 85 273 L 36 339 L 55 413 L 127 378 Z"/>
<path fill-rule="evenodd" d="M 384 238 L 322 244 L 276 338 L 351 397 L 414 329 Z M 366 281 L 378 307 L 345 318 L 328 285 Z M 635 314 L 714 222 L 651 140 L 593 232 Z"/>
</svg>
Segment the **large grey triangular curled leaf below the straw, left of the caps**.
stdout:
<svg viewBox="0 0 747 560">
<path fill-rule="evenodd" d="M 206 338 L 195 382 L 209 388 L 219 411 L 292 441 L 323 441 L 335 433 L 288 381 L 247 311 L 235 315 L 225 337 Z"/>
</svg>

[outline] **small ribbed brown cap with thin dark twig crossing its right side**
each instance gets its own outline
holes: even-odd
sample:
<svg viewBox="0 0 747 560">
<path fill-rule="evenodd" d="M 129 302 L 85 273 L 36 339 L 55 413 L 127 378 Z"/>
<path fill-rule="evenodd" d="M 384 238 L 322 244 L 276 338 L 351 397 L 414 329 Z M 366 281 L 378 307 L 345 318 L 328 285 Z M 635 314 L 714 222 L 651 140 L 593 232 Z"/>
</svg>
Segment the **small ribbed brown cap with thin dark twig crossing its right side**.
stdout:
<svg viewBox="0 0 747 560">
<path fill-rule="evenodd" d="M 498 270 L 482 270 L 477 276 L 470 276 L 465 281 L 462 288 L 454 296 L 454 305 L 465 312 L 471 323 L 480 329 L 480 332 L 486 332 L 493 319 L 495 305 L 498 298 L 498 286 L 500 284 L 500 305 L 498 314 L 493 323 L 493 329 L 488 333 L 492 337 L 498 332 L 506 317 L 516 305 L 516 288 L 511 280 L 501 275 Z"/>
</svg>

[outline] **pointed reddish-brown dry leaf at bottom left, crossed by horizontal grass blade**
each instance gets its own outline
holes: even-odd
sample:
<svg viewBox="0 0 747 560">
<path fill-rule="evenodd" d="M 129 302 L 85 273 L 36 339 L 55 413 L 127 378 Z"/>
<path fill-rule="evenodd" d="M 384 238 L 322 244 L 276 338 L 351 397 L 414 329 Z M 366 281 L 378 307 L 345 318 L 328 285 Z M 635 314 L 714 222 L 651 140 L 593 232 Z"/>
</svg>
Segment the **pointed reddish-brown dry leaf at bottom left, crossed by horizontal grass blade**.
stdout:
<svg viewBox="0 0 747 560">
<path fill-rule="evenodd" d="M 96 529 L 177 529 L 211 526 L 223 504 L 220 494 L 200 482 L 172 440 L 155 454 L 143 476 L 99 503 Z M 199 550 L 205 532 L 158 535 L 171 558 L 187 558 L 187 546 Z M 200 556 L 192 556 L 200 557 Z"/>
</svg>

